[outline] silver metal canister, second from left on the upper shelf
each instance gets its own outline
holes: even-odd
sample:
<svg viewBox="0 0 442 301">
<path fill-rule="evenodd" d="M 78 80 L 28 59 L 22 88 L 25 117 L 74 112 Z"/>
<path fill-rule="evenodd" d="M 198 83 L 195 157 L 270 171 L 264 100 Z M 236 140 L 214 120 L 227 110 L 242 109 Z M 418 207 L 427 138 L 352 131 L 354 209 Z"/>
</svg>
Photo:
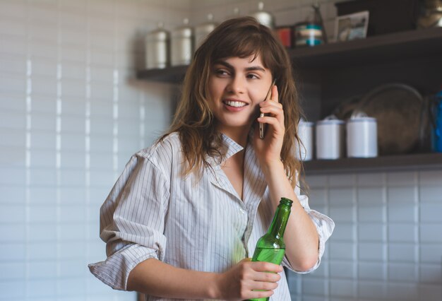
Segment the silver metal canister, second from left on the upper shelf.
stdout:
<svg viewBox="0 0 442 301">
<path fill-rule="evenodd" d="M 172 30 L 170 38 L 171 65 L 189 65 L 193 55 L 193 30 L 189 19 L 184 19 L 184 25 Z"/>
</svg>

